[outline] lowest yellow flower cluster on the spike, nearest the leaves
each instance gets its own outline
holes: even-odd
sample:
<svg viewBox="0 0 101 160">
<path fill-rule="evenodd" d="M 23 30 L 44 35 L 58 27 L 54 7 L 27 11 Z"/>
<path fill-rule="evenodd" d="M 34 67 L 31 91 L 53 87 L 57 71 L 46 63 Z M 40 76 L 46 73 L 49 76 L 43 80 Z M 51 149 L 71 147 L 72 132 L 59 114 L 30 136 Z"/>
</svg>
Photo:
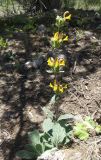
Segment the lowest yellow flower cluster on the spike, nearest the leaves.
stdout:
<svg viewBox="0 0 101 160">
<path fill-rule="evenodd" d="M 67 84 L 60 84 L 59 82 L 56 81 L 56 79 L 54 80 L 53 83 L 50 83 L 49 85 L 53 91 L 57 94 L 59 93 L 63 93 L 65 91 L 65 89 L 67 89 Z"/>
</svg>

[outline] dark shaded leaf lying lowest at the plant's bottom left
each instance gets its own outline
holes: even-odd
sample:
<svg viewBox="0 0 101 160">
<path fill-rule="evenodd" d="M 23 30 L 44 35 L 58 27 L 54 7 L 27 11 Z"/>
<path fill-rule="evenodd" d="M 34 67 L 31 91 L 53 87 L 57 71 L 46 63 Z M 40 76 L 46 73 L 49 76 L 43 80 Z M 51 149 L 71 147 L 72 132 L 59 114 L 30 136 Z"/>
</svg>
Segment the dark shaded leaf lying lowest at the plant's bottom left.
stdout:
<svg viewBox="0 0 101 160">
<path fill-rule="evenodd" d="M 18 156 L 20 158 L 23 158 L 23 159 L 33 159 L 33 158 L 35 158 L 34 153 L 26 151 L 26 150 L 18 151 L 16 153 L 16 156 Z"/>
</svg>

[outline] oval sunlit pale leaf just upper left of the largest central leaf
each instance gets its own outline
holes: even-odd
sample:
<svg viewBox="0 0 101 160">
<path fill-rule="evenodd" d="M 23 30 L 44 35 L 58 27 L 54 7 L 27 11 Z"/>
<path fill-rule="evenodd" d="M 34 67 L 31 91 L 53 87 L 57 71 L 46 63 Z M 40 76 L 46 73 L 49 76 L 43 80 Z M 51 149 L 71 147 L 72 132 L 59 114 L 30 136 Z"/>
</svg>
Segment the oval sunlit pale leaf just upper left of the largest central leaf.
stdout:
<svg viewBox="0 0 101 160">
<path fill-rule="evenodd" d="M 48 132 L 52 129 L 53 127 L 53 122 L 50 118 L 47 118 L 44 120 L 43 124 L 42 124 L 42 128 L 44 132 Z"/>
</svg>

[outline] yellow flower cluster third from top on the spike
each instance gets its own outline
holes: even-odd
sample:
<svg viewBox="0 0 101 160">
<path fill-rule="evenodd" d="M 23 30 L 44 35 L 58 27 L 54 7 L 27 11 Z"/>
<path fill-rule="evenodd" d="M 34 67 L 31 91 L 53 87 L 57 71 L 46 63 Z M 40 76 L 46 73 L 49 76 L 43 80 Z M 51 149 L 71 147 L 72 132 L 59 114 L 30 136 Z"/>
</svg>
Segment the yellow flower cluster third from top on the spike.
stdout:
<svg viewBox="0 0 101 160">
<path fill-rule="evenodd" d="M 50 57 L 47 60 L 48 66 L 52 67 L 52 68 L 60 68 L 65 66 L 65 60 L 63 58 L 53 58 Z"/>
</svg>

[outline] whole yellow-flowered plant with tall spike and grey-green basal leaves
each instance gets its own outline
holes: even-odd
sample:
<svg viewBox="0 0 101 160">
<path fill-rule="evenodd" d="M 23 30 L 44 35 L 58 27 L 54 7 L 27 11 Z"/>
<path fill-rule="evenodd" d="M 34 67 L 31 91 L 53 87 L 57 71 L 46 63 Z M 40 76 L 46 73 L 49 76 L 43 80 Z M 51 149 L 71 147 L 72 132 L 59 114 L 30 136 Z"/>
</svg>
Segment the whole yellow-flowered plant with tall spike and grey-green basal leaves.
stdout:
<svg viewBox="0 0 101 160">
<path fill-rule="evenodd" d="M 56 17 L 57 31 L 51 38 L 51 47 L 54 51 L 55 48 L 61 47 L 64 42 L 68 42 L 68 36 L 61 32 L 63 25 L 66 21 L 71 19 L 71 14 L 65 12 L 63 17 Z M 64 72 L 63 68 L 66 65 L 66 59 L 64 57 L 49 57 L 47 60 L 50 70 L 48 73 L 54 75 L 54 79 L 50 82 L 49 86 L 54 91 L 55 96 L 60 96 L 67 89 L 67 84 L 58 80 L 58 75 Z M 46 109 L 47 110 L 47 109 Z M 45 112 L 45 110 L 44 110 Z M 71 140 L 71 126 L 66 122 L 67 119 L 73 118 L 72 115 L 62 115 L 59 118 L 55 118 L 53 113 L 48 110 L 46 119 L 42 124 L 42 131 L 34 130 L 28 134 L 30 143 L 25 146 L 24 150 L 18 151 L 17 156 L 25 159 L 37 158 L 44 151 L 52 149 L 54 147 L 61 148 L 61 146 L 67 145 Z"/>
</svg>

